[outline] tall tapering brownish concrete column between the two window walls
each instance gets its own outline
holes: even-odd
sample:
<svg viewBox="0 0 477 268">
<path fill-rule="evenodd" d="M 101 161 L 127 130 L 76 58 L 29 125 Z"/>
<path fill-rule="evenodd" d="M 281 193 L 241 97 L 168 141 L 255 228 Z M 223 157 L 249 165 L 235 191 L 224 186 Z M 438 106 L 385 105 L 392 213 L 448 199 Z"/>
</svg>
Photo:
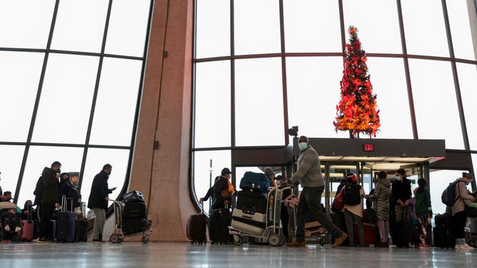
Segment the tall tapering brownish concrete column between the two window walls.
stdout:
<svg viewBox="0 0 477 268">
<path fill-rule="evenodd" d="M 189 197 L 193 10 L 192 0 L 154 3 L 129 185 L 146 198 L 151 241 L 186 240 L 184 227 L 195 213 Z"/>
</svg>

